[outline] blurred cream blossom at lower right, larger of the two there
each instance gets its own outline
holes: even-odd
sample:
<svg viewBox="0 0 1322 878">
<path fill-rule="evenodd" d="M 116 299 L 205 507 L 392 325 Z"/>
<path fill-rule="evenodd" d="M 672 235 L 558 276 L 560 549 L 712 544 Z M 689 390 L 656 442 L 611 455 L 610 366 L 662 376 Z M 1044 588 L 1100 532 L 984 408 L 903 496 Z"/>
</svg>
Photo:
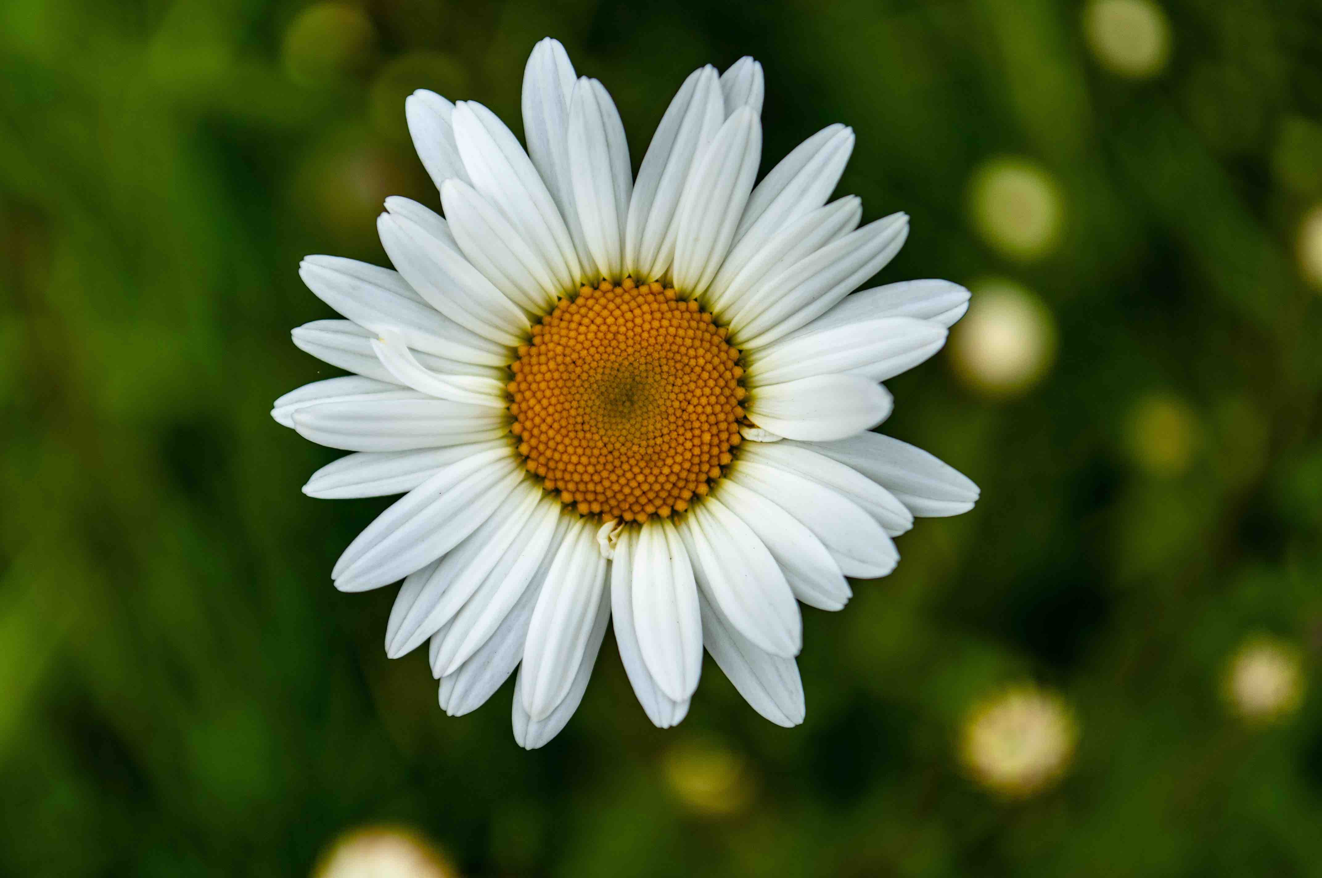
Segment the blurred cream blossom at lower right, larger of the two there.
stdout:
<svg viewBox="0 0 1322 878">
<path fill-rule="evenodd" d="M 964 721 L 960 760 L 988 789 L 1022 799 L 1060 779 L 1077 739 L 1079 727 L 1060 696 L 1018 684 L 973 706 Z"/>
</svg>

